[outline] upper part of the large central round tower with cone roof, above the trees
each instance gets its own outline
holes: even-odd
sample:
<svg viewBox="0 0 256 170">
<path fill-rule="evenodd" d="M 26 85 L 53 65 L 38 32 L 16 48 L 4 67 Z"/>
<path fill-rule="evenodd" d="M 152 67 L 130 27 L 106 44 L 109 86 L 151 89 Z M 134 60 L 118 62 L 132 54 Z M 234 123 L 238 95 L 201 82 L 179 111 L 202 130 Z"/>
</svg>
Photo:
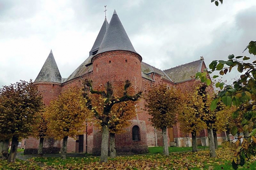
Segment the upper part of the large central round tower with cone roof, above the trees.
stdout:
<svg viewBox="0 0 256 170">
<path fill-rule="evenodd" d="M 110 81 L 114 85 L 129 79 L 136 90 L 141 88 L 142 57 L 134 50 L 116 12 L 109 22 L 97 54 L 92 57 L 93 85 L 99 89 Z"/>
</svg>

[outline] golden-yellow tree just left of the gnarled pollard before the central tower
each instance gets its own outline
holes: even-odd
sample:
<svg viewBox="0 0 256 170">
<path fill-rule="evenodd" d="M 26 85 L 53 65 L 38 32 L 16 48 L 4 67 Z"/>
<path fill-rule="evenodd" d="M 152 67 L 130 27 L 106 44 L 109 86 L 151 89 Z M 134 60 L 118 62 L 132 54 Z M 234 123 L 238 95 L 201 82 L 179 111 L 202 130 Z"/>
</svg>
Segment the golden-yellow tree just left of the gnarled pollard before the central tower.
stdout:
<svg viewBox="0 0 256 170">
<path fill-rule="evenodd" d="M 61 158 L 66 159 L 67 140 L 76 137 L 85 129 L 85 120 L 88 114 L 85 99 L 79 87 L 70 87 L 59 97 L 50 101 L 46 108 L 47 134 L 56 140 L 62 141 Z"/>
</svg>

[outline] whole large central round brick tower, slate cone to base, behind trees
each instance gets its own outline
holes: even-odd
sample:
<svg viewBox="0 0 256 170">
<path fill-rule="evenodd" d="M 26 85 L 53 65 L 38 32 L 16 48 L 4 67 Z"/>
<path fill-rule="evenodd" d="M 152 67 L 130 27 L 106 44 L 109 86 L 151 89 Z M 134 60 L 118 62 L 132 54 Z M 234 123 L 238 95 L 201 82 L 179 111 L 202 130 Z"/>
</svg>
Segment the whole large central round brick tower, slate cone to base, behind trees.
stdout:
<svg viewBox="0 0 256 170">
<path fill-rule="evenodd" d="M 110 82 L 114 88 L 123 88 L 123 82 L 129 79 L 135 92 L 142 90 L 141 61 L 142 57 L 134 50 L 114 11 L 99 50 L 92 57 L 94 89 L 104 90 L 107 82 Z M 126 128 L 126 132 L 115 135 L 117 155 L 148 152 L 145 121 L 137 118 L 130 121 L 131 126 Z M 100 155 L 100 150 L 101 132 L 95 127 L 93 155 Z"/>
</svg>

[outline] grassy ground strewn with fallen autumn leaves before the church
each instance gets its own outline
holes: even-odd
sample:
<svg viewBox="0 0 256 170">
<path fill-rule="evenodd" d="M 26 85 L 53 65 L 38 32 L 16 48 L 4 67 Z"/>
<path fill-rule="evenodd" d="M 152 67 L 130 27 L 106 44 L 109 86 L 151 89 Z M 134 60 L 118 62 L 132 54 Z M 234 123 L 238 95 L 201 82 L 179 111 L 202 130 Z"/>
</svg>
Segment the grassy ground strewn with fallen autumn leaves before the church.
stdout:
<svg viewBox="0 0 256 170">
<path fill-rule="evenodd" d="M 159 150 L 159 149 L 155 149 Z M 151 149 L 152 151 L 152 149 Z M 83 158 L 31 158 L 26 161 L 17 161 L 15 164 L 8 164 L 0 161 L 0 169 L 232 169 L 230 160 L 233 153 L 228 148 L 220 148 L 216 158 L 209 157 L 209 150 L 201 150 L 197 153 L 179 152 L 170 153 L 169 157 L 161 154 L 146 154 L 133 156 L 118 156 L 109 159 L 108 163 L 100 164 L 99 157 L 87 156 Z M 244 167 L 240 169 L 255 169 L 256 161 L 253 157 Z"/>
</svg>

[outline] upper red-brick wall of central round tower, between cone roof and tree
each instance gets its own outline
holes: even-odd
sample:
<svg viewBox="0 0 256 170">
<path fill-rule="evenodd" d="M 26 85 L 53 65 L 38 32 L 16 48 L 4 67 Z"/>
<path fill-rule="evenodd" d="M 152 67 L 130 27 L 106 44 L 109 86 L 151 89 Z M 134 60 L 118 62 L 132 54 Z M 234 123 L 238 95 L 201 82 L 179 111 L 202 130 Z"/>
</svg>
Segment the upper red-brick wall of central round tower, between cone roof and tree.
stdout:
<svg viewBox="0 0 256 170">
<path fill-rule="evenodd" d="M 92 62 L 92 80 L 96 90 L 103 90 L 108 81 L 119 87 L 127 79 L 136 91 L 142 87 L 140 55 L 130 51 L 108 51 L 94 56 Z"/>
</svg>

